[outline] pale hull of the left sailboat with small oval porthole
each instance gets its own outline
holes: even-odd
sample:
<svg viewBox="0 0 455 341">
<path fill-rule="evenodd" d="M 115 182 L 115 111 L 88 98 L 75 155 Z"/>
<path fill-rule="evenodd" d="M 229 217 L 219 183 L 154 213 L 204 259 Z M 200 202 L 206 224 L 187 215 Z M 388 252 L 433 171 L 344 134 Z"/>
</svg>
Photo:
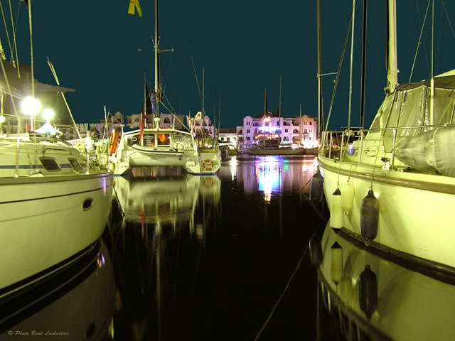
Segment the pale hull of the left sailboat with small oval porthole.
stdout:
<svg viewBox="0 0 455 341">
<path fill-rule="evenodd" d="M 90 246 L 112 207 L 112 173 L 1 178 L 0 190 L 0 290 Z"/>
</svg>

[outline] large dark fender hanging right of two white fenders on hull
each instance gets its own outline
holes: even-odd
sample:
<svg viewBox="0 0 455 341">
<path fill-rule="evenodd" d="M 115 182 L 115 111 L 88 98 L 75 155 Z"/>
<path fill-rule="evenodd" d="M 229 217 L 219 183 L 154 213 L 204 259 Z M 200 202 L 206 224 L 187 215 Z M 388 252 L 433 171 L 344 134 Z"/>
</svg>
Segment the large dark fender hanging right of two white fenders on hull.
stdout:
<svg viewBox="0 0 455 341">
<path fill-rule="evenodd" d="M 360 235 L 365 240 L 366 246 L 369 246 L 378 236 L 378 224 L 379 200 L 373 190 L 369 190 L 360 207 Z"/>
</svg>

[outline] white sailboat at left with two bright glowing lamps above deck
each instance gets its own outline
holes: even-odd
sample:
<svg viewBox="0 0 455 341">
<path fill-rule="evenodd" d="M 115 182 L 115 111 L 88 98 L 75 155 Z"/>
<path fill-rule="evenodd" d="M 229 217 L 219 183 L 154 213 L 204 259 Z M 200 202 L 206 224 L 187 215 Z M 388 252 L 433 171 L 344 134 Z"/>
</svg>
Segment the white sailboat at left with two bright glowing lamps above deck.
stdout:
<svg viewBox="0 0 455 341">
<path fill-rule="evenodd" d="M 93 165 L 56 136 L 55 129 L 34 129 L 36 119 L 18 110 L 19 104 L 39 102 L 33 72 L 28 97 L 28 90 L 14 87 L 12 72 L 5 71 L 14 66 L 3 58 L 0 63 L 1 102 L 7 103 L 0 112 L 0 301 L 4 301 L 11 293 L 18 295 L 47 281 L 93 249 L 109 219 L 113 174 Z M 58 91 L 61 88 L 55 87 Z M 40 112 L 35 105 L 23 111 Z M 4 131 L 6 119 L 13 131 Z M 21 132 L 23 122 L 29 131 Z"/>
</svg>

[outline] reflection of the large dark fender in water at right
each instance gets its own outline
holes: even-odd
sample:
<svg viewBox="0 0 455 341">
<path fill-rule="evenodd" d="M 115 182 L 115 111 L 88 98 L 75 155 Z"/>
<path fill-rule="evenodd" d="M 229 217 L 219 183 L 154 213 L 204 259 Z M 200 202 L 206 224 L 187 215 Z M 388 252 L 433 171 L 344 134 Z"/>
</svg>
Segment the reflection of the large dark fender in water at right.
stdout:
<svg viewBox="0 0 455 341">
<path fill-rule="evenodd" d="M 360 309 L 370 318 L 378 309 L 378 277 L 369 265 L 360 273 L 358 295 Z"/>
</svg>

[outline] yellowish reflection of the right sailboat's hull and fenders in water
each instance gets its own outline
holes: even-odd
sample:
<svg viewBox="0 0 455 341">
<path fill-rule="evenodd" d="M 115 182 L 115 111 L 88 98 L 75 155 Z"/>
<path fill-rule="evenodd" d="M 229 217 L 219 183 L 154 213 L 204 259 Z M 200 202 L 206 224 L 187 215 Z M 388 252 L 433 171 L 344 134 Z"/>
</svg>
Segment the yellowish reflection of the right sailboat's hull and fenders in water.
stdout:
<svg viewBox="0 0 455 341">
<path fill-rule="evenodd" d="M 348 340 L 453 340 L 455 278 L 439 281 L 371 254 L 329 225 L 310 249 L 319 297 Z"/>
</svg>

